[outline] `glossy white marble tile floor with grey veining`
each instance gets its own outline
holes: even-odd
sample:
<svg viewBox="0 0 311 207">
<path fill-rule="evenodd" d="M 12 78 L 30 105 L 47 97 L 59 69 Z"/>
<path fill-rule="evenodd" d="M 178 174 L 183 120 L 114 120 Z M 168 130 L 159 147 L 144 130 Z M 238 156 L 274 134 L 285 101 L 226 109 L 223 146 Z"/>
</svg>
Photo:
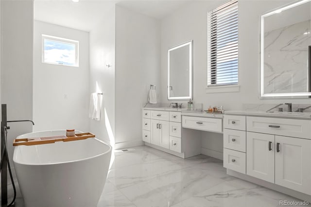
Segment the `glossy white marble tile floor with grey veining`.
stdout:
<svg viewBox="0 0 311 207">
<path fill-rule="evenodd" d="M 227 175 L 216 158 L 182 159 L 147 146 L 134 148 L 115 152 L 97 207 L 277 207 L 280 200 L 300 201 Z M 19 192 L 16 207 L 24 207 Z"/>
</svg>

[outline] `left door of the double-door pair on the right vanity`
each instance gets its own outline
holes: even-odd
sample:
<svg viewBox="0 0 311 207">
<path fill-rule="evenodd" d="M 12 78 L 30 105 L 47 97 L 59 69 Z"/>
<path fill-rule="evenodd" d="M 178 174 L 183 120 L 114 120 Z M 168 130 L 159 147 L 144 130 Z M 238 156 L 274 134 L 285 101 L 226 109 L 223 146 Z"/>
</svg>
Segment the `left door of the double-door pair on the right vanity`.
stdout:
<svg viewBox="0 0 311 207">
<path fill-rule="evenodd" d="M 246 174 L 274 183 L 274 140 L 274 135 L 246 132 Z"/>
</svg>

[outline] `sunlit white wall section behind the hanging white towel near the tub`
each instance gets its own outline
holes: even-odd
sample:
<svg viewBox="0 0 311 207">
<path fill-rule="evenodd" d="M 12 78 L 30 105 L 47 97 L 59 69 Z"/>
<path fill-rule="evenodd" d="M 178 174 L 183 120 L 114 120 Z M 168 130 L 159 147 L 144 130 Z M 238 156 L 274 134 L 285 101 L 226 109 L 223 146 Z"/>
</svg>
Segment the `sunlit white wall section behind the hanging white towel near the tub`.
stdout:
<svg viewBox="0 0 311 207">
<path fill-rule="evenodd" d="M 102 21 L 89 33 L 89 93 L 103 92 L 100 121 L 89 121 L 90 132 L 114 145 L 115 136 L 115 5 L 105 8 Z M 112 67 L 107 68 L 110 64 Z"/>
</svg>

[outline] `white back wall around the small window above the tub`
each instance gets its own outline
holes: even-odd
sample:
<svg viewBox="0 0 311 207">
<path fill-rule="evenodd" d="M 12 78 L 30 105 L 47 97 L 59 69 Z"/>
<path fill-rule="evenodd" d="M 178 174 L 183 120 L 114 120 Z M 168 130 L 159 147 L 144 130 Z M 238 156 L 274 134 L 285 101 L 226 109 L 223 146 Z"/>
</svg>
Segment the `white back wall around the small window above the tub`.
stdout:
<svg viewBox="0 0 311 207">
<path fill-rule="evenodd" d="M 79 67 L 42 63 L 42 35 L 79 41 Z M 34 131 L 88 128 L 89 34 L 34 21 Z"/>
</svg>

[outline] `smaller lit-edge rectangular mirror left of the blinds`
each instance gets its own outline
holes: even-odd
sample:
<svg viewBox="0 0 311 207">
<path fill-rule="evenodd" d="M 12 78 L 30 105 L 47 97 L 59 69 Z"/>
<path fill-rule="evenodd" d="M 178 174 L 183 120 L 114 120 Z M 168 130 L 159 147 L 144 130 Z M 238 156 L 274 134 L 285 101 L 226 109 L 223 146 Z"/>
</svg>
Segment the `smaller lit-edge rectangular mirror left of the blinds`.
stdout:
<svg viewBox="0 0 311 207">
<path fill-rule="evenodd" d="M 168 50 L 168 99 L 192 99 L 192 40 Z"/>
</svg>

